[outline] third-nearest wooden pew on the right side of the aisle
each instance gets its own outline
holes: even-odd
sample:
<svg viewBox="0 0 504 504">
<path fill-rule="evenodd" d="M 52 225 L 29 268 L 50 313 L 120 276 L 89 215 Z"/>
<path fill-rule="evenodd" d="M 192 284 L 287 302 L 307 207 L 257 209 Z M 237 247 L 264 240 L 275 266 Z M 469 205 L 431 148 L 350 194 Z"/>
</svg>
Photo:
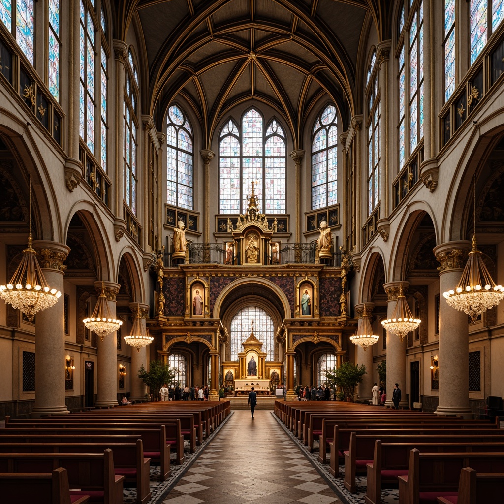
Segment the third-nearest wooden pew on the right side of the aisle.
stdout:
<svg viewBox="0 0 504 504">
<path fill-rule="evenodd" d="M 359 441 L 367 436 L 357 436 Z M 372 443 L 373 436 L 369 436 L 368 443 Z M 483 440 L 481 439 L 483 438 Z M 485 440 L 486 439 L 486 440 Z M 383 436 L 374 440 L 374 454 L 372 463 L 366 464 L 367 488 L 364 500 L 366 504 L 380 504 L 382 502 L 382 486 L 398 485 L 398 476 L 408 474 L 410 452 L 416 448 L 419 452 L 504 452 L 504 439 L 498 443 L 492 442 L 493 436 L 434 436 L 425 443 L 423 436 Z M 345 472 L 346 478 L 346 472 Z"/>
</svg>

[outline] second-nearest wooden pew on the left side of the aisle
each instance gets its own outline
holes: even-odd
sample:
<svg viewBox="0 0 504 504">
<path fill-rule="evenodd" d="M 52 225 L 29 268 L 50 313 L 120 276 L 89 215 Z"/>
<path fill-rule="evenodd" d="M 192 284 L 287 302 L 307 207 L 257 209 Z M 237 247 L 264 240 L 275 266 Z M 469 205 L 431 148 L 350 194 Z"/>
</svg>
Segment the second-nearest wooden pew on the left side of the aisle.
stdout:
<svg viewBox="0 0 504 504">
<path fill-rule="evenodd" d="M 114 474 L 112 450 L 97 453 L 0 453 L 0 472 L 67 470 L 71 495 L 89 495 L 93 502 L 121 504 L 124 476 Z M 32 496 L 33 497 L 33 496 Z"/>
</svg>

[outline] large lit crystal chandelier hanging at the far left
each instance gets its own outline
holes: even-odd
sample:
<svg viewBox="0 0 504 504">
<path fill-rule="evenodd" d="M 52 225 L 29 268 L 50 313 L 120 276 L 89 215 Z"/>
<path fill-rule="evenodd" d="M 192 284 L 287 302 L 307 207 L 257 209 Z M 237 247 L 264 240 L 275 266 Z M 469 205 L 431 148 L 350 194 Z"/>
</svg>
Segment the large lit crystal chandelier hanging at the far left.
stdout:
<svg viewBox="0 0 504 504">
<path fill-rule="evenodd" d="M 31 235 L 31 177 L 28 204 L 28 246 L 23 250 L 23 258 L 7 285 L 0 285 L 0 297 L 14 308 L 25 313 L 31 323 L 35 313 L 56 303 L 61 292 L 51 289 L 37 261 L 37 253 L 32 247 Z"/>
</svg>

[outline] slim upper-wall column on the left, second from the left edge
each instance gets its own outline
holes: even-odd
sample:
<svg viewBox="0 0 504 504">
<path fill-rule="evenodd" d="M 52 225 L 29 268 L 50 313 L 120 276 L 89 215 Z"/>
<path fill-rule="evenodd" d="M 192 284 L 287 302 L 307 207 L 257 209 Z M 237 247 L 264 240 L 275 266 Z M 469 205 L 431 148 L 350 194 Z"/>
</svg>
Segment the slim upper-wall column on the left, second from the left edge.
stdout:
<svg viewBox="0 0 504 504">
<path fill-rule="evenodd" d="M 115 204 L 113 209 L 116 219 L 121 220 L 124 199 L 124 70 L 128 61 L 128 45 L 122 40 L 113 40 L 113 46 L 115 56 Z"/>
</svg>

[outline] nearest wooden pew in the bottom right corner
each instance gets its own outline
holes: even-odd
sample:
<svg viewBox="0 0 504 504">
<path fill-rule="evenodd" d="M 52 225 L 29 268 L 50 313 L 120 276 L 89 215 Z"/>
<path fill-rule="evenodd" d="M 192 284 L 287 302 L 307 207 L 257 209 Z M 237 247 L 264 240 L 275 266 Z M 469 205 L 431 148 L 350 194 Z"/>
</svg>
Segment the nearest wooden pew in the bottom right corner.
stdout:
<svg viewBox="0 0 504 504">
<path fill-rule="evenodd" d="M 502 502 L 504 473 L 477 472 L 471 467 L 460 471 L 457 495 L 437 497 L 439 504 L 488 504 Z"/>
</svg>

